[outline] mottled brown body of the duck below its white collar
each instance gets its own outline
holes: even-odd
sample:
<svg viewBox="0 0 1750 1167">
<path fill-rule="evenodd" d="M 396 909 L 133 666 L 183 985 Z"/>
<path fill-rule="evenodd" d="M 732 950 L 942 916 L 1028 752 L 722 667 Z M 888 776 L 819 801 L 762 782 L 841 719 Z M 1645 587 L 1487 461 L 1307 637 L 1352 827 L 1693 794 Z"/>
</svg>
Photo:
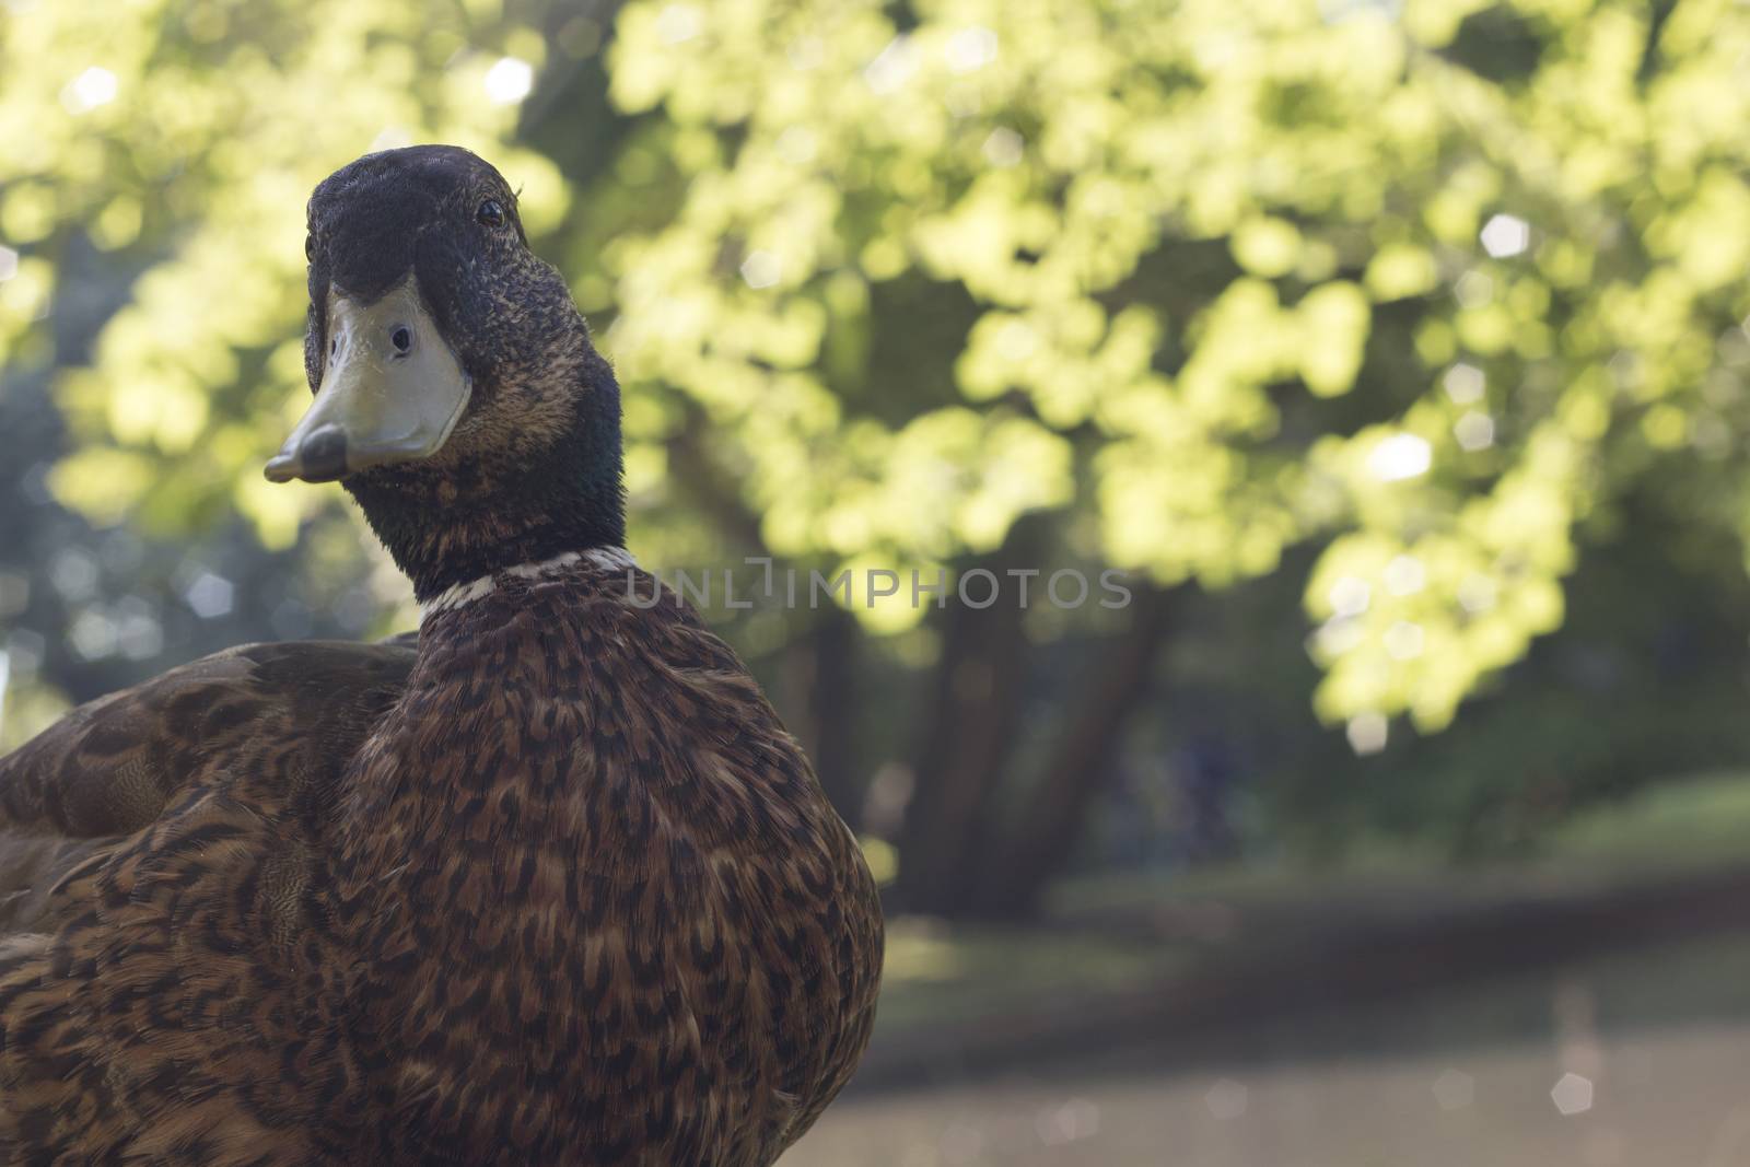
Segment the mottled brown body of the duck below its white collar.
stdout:
<svg viewBox="0 0 1750 1167">
<path fill-rule="evenodd" d="M 758 686 L 590 565 L 82 707 L 0 759 L 0 929 L 7 1162 L 765 1165 L 880 971 Z"/>
</svg>

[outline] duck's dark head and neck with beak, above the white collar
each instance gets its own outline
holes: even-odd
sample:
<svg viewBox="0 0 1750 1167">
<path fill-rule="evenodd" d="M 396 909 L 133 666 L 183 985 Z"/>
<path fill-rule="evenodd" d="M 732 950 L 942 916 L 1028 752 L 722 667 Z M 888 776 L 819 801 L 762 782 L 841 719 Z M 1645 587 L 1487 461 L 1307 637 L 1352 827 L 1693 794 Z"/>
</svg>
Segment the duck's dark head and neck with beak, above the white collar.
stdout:
<svg viewBox="0 0 1750 1167">
<path fill-rule="evenodd" d="M 620 388 L 474 154 L 368 154 L 310 198 L 304 373 L 268 462 L 334 481 L 427 598 L 625 539 Z"/>
</svg>

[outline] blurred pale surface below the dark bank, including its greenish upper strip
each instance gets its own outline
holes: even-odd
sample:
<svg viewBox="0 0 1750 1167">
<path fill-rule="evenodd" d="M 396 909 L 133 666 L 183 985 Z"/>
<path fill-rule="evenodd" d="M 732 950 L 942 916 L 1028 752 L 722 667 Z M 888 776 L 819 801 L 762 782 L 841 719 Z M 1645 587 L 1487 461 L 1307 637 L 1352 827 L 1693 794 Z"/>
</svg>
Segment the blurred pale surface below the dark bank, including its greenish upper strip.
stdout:
<svg viewBox="0 0 1750 1167">
<path fill-rule="evenodd" d="M 782 1167 L 1750 1165 L 1741 955 L 1706 940 L 850 1094 Z"/>
</svg>

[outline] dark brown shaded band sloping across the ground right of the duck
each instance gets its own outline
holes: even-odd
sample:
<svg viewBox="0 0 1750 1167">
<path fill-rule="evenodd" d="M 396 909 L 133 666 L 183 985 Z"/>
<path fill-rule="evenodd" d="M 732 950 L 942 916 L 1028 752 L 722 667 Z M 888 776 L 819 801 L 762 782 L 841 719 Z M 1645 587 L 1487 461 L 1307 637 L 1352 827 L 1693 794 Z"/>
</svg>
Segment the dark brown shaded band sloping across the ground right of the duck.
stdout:
<svg viewBox="0 0 1750 1167">
<path fill-rule="evenodd" d="M 910 1088 L 940 1078 L 978 1078 L 1017 1064 L 1046 1066 L 1087 1050 L 1152 1055 L 1153 1066 L 1194 1060 L 1206 1043 L 1248 1027 L 1316 1018 L 1354 1006 L 1377 1006 L 1456 990 L 1514 975 L 1559 969 L 1608 954 L 1657 952 L 1698 936 L 1750 933 L 1750 870 L 1706 871 L 1650 885 L 1580 887 L 1480 903 L 1430 905 L 1404 915 L 1351 903 L 1351 919 L 1312 908 L 1276 927 L 1241 927 L 1232 943 L 1213 945 L 1183 975 L 1110 996 L 1064 994 L 1026 1013 L 931 1031 L 906 1031 L 877 1043 L 859 1090 Z M 1244 912 L 1241 910 L 1244 915 Z M 1102 927 L 1124 927 L 1108 920 Z M 1158 924 L 1129 920 L 1146 943 Z M 1167 933 L 1158 934 L 1160 940 Z M 1715 1003 L 1682 997 L 1645 1024 L 1704 1022 Z M 1524 1032 L 1533 1018 L 1496 1018 L 1491 1027 L 1449 1034 L 1444 1043 L 1489 1043 Z M 1393 1043 L 1424 1043 L 1410 1031 L 1374 1034 L 1367 1048 L 1339 1038 L 1349 1055 L 1384 1053 Z"/>
</svg>

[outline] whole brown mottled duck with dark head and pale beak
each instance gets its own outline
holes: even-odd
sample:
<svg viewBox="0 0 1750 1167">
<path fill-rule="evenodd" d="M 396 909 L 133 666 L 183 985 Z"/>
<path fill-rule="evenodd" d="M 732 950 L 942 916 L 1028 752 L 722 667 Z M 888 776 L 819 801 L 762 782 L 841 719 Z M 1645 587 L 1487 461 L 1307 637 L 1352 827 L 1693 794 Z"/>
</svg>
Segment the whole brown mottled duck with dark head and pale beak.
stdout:
<svg viewBox="0 0 1750 1167">
<path fill-rule="evenodd" d="M 0 1158 L 777 1160 L 870 1038 L 856 836 L 625 551 L 620 388 L 504 177 L 308 203 L 308 411 L 415 635 L 234 647 L 0 759 Z"/>
</svg>

